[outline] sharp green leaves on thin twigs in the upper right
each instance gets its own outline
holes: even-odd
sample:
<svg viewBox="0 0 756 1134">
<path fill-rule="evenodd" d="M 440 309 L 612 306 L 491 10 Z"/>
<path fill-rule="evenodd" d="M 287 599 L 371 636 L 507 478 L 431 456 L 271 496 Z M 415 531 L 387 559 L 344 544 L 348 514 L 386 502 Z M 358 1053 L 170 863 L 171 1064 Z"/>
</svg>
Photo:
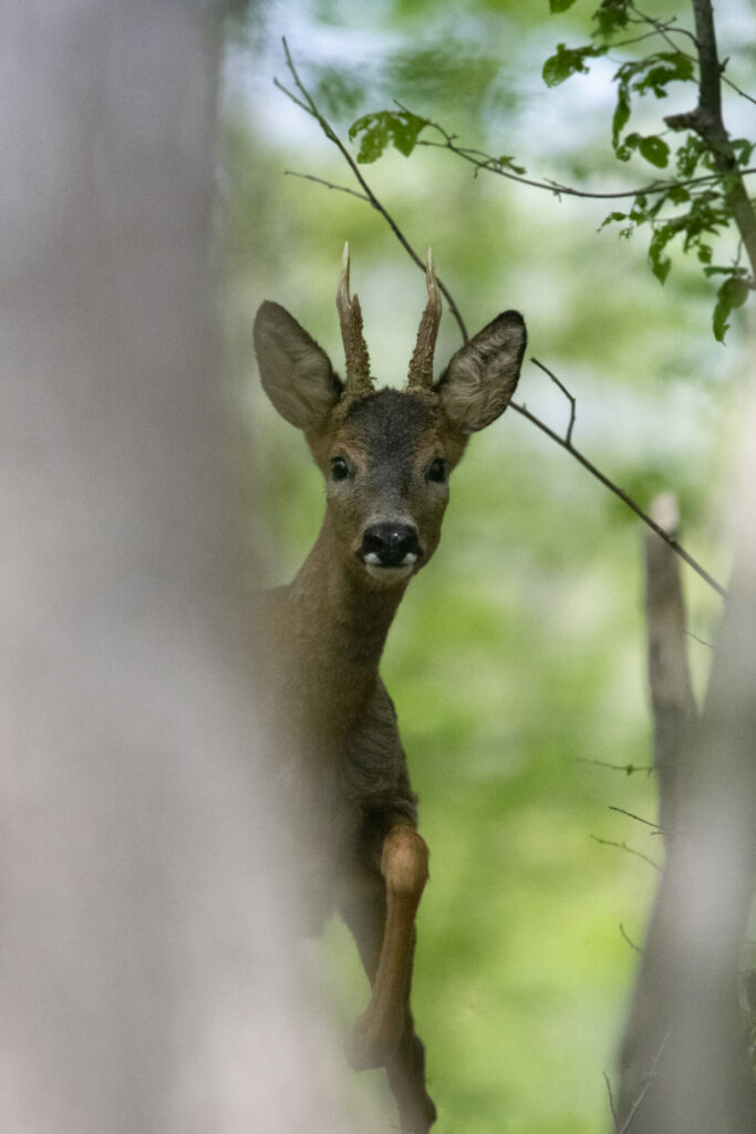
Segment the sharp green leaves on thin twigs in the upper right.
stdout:
<svg viewBox="0 0 756 1134">
<path fill-rule="evenodd" d="M 550 8 L 553 14 L 560 14 L 571 8 L 575 0 L 550 0 Z M 574 75 L 586 74 L 593 60 L 609 56 L 610 51 L 619 49 L 627 54 L 628 49 L 640 41 L 660 41 L 656 50 L 625 58 L 613 74 L 617 102 L 611 120 L 611 144 L 615 158 L 621 162 L 629 162 L 634 155 L 638 155 L 654 171 L 669 170 L 671 174 L 663 180 L 651 180 L 640 191 L 630 191 L 627 196 L 631 200 L 631 205 L 610 212 L 601 228 L 617 223 L 621 226 L 620 235 L 629 237 L 637 229 L 647 227 L 651 231 L 648 260 L 660 284 L 665 282 L 671 270 L 670 246 L 674 240 L 679 240 L 683 254 L 695 255 L 704 276 L 720 280 L 713 331 L 722 342 L 730 313 L 745 303 L 753 280 L 737 259 L 730 264 L 714 264 L 714 248 L 717 238 L 732 230 L 730 195 L 733 178 L 748 168 L 756 143 L 748 138 L 730 143 L 733 170 L 727 175 L 722 172 L 721 163 L 717 166 L 711 146 L 695 132 L 693 125 L 668 125 L 656 133 L 632 129 L 634 111 L 644 98 L 666 99 L 672 84 L 691 87 L 695 98 L 699 82 L 698 60 L 678 46 L 680 42 L 687 45 L 694 37 L 678 27 L 674 19 L 664 22 L 645 16 L 634 0 L 603 0 L 592 19 L 594 29 L 591 42 L 579 46 L 559 43 L 555 52 L 543 65 L 544 83 L 547 87 L 560 86 Z M 351 125 L 350 139 L 359 139 L 358 162 L 374 162 L 388 147 L 409 156 L 418 143 L 445 144 L 455 153 L 472 161 L 476 175 L 481 169 L 516 178 L 525 175 L 524 166 L 513 154 L 494 156 L 457 146 L 453 144 L 453 136 L 443 127 L 413 113 L 401 104 L 397 105 L 396 110 L 364 115 Z M 439 132 L 444 141 L 421 138 L 427 128 Z M 554 183 L 541 184 L 541 187 L 580 195 L 580 191 L 569 191 Z"/>
</svg>

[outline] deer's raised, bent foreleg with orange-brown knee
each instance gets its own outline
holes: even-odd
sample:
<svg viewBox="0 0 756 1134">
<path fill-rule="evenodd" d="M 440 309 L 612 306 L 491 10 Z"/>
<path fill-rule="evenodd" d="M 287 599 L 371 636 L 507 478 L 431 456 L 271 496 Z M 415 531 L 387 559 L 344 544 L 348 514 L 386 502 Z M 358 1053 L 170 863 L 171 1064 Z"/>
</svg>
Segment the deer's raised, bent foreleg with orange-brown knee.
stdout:
<svg viewBox="0 0 756 1134">
<path fill-rule="evenodd" d="M 415 915 L 428 877 L 427 861 L 427 847 L 411 827 L 394 827 L 383 840 L 385 922 L 371 1001 L 348 1043 L 349 1061 L 355 1068 L 387 1065 L 405 1034 Z"/>
</svg>

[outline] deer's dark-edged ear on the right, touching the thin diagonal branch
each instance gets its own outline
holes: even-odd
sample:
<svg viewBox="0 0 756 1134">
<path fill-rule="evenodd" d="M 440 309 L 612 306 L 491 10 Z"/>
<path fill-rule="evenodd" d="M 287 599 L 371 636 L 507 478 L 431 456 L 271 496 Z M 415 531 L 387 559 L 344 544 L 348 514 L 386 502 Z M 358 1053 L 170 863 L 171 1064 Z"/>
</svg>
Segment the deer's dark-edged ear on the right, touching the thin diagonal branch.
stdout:
<svg viewBox="0 0 756 1134">
<path fill-rule="evenodd" d="M 526 342 L 523 316 L 506 311 L 453 355 L 435 390 L 456 430 L 475 433 L 504 412 L 520 376 Z"/>
</svg>

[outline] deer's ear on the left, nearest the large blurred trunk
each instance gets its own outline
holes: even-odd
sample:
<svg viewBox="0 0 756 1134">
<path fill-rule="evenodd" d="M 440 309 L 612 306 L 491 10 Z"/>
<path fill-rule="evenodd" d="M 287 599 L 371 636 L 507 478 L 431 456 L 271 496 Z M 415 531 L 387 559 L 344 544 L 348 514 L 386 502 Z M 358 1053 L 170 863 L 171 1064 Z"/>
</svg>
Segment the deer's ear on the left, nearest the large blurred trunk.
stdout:
<svg viewBox="0 0 756 1134">
<path fill-rule="evenodd" d="M 284 307 L 266 301 L 255 319 L 255 354 L 263 389 L 281 417 L 316 429 L 341 397 L 329 356 Z"/>
</svg>

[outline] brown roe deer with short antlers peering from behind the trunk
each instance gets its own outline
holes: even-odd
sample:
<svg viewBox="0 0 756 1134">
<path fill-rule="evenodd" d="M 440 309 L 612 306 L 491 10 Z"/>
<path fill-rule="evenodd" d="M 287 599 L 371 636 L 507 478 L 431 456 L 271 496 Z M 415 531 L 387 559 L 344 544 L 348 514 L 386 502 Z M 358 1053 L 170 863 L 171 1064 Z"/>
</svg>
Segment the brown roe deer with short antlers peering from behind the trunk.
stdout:
<svg viewBox="0 0 756 1134">
<path fill-rule="evenodd" d="M 292 583 L 263 598 L 270 711 L 286 730 L 278 759 L 289 763 L 286 790 L 297 796 L 307 894 L 321 917 L 341 913 L 372 984 L 349 1061 L 385 1067 L 401 1129 L 416 1134 L 435 1119 L 409 1008 L 428 852 L 379 663 L 410 578 L 438 547 L 449 473 L 468 435 L 507 408 L 526 342 L 521 315 L 507 311 L 434 383 L 441 296 L 430 252 L 426 284 L 402 391 L 374 388 L 348 246 L 337 296 L 343 382 L 283 307 L 263 303 L 255 320 L 265 392 L 303 430 L 326 485 L 313 550 Z"/>
</svg>

